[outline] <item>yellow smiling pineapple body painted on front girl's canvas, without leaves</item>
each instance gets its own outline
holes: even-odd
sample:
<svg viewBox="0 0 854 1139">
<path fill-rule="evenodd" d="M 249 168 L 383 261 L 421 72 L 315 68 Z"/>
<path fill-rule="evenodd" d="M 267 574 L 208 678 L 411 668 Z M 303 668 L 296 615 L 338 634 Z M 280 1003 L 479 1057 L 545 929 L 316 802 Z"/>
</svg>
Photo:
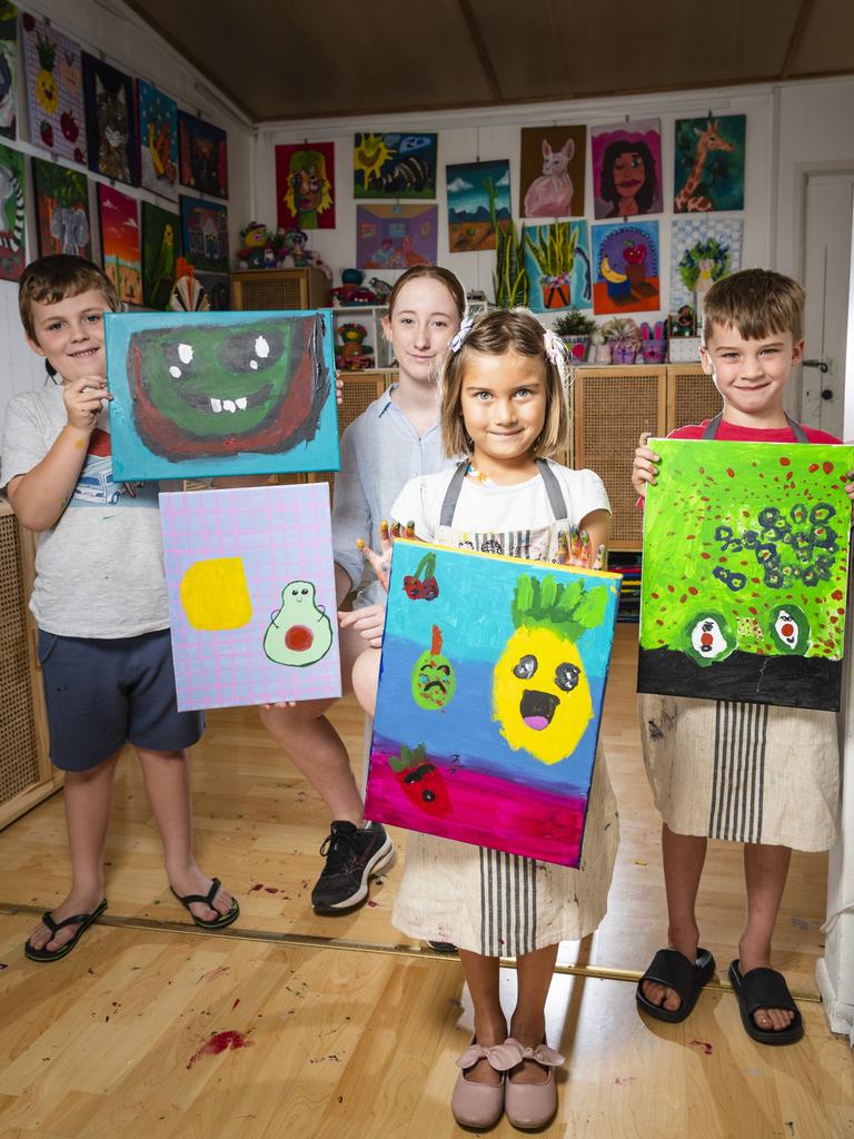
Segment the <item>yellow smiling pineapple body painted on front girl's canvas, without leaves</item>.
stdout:
<svg viewBox="0 0 854 1139">
<path fill-rule="evenodd" d="M 542 763 L 572 755 L 593 716 L 578 650 L 553 629 L 517 629 L 492 675 L 492 715 L 515 751 Z"/>
</svg>

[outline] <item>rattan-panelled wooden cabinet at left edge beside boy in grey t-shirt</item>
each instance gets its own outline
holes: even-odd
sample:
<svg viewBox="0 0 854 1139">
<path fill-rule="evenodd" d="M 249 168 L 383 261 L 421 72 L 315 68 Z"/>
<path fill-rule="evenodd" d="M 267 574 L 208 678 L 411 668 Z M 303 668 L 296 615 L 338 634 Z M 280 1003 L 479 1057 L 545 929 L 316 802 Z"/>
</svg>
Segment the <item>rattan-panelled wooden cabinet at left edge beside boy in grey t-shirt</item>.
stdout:
<svg viewBox="0 0 854 1139">
<path fill-rule="evenodd" d="M 27 609 L 35 535 L 0 502 L 0 828 L 61 786 L 48 756 L 38 630 Z"/>
</svg>

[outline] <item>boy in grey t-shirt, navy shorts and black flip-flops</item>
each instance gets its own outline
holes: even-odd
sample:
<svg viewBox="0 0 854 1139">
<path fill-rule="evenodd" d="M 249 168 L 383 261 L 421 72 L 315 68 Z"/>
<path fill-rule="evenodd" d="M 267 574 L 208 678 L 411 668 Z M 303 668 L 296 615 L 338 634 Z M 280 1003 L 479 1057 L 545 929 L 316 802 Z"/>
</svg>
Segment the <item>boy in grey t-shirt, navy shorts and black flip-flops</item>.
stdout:
<svg viewBox="0 0 854 1139">
<path fill-rule="evenodd" d="M 35 961 L 71 952 L 104 912 L 104 845 L 118 754 L 137 749 L 175 896 L 197 925 L 230 925 L 237 901 L 192 855 L 189 756 L 200 713 L 179 712 L 166 607 L 157 487 L 113 482 L 104 409 L 104 312 L 121 303 L 107 276 L 56 254 L 25 269 L 26 339 L 60 385 L 9 403 L 0 487 L 40 535 L 30 607 L 50 727 L 65 772 L 68 895 L 25 945 Z"/>
</svg>

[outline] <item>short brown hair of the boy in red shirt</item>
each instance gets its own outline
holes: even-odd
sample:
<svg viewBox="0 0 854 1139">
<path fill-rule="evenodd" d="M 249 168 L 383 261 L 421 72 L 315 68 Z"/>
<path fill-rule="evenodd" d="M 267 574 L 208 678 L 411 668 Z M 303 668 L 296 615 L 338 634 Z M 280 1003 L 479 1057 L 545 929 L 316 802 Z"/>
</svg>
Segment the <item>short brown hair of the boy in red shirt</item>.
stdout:
<svg viewBox="0 0 854 1139">
<path fill-rule="evenodd" d="M 791 277 L 771 269 L 742 269 L 715 281 L 703 300 L 703 342 L 714 326 L 732 325 L 746 341 L 761 341 L 773 333 L 804 335 L 806 293 Z"/>
</svg>

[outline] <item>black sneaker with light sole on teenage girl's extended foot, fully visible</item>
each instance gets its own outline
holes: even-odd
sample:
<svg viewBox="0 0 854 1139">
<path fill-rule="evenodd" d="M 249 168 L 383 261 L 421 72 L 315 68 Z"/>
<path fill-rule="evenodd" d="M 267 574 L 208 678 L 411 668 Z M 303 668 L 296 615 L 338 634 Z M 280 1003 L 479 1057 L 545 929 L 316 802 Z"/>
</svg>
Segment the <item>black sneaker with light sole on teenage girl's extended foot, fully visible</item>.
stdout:
<svg viewBox="0 0 854 1139">
<path fill-rule="evenodd" d="M 392 839 L 379 822 L 356 827 L 334 822 L 320 853 L 323 872 L 311 892 L 315 913 L 337 913 L 361 906 L 368 898 L 368 882 L 394 860 Z"/>
</svg>

